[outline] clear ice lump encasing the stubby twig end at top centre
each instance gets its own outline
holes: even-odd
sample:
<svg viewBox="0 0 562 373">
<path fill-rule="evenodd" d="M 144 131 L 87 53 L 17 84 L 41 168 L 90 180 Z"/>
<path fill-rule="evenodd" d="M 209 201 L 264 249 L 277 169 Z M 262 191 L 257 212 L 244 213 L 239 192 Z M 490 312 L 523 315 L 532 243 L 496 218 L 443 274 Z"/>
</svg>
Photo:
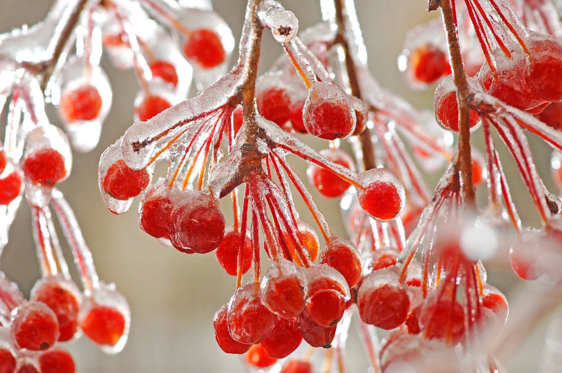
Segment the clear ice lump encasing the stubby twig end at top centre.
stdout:
<svg viewBox="0 0 562 373">
<path fill-rule="evenodd" d="M 262 1 L 257 16 L 279 43 L 290 42 L 298 33 L 297 17 L 277 1 Z"/>
</svg>

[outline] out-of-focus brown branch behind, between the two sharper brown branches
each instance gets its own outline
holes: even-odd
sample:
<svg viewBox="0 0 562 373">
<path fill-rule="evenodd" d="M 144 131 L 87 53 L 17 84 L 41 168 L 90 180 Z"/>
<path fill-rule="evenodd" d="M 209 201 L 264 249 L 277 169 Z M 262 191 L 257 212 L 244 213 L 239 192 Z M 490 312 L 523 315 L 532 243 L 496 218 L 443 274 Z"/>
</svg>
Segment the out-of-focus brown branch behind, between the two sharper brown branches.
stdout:
<svg viewBox="0 0 562 373">
<path fill-rule="evenodd" d="M 350 81 L 351 94 L 361 99 L 361 88 L 359 86 L 359 79 L 357 78 L 355 61 L 353 61 L 353 58 L 351 57 L 349 45 L 345 37 L 346 26 L 343 21 L 343 1 L 334 0 L 334 5 L 336 6 L 336 24 L 338 26 L 338 32 L 336 38 L 334 39 L 334 43 L 342 46 L 345 54 L 346 70 Z M 365 130 L 359 135 L 359 140 L 361 142 L 363 166 L 365 167 L 365 170 L 376 168 L 377 163 L 375 162 L 375 149 L 373 147 L 373 142 L 371 141 L 371 131 L 368 128 L 365 128 Z"/>
</svg>

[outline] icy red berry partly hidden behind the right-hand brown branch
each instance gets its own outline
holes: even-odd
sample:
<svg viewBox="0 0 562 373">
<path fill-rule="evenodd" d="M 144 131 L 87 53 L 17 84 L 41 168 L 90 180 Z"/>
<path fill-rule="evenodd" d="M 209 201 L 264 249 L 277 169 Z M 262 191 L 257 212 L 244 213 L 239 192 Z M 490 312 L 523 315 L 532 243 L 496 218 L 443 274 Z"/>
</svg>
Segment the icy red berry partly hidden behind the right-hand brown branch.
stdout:
<svg viewBox="0 0 562 373">
<path fill-rule="evenodd" d="M 456 90 L 441 89 L 437 87 L 434 101 L 435 118 L 437 123 L 448 131 L 459 131 L 459 102 L 457 101 Z M 474 110 L 469 112 L 469 128 L 478 124 L 480 116 Z"/>
</svg>

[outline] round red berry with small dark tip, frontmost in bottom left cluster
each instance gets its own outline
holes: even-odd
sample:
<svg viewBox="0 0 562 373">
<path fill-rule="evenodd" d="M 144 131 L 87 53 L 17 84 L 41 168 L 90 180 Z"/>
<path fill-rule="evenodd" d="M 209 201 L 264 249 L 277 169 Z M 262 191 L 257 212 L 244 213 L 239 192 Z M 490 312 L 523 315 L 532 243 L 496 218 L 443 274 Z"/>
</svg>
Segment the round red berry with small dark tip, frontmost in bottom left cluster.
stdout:
<svg viewBox="0 0 562 373">
<path fill-rule="evenodd" d="M 55 344 L 60 331 L 51 308 L 39 302 L 25 302 L 12 316 L 10 333 L 14 347 L 39 351 Z"/>
</svg>

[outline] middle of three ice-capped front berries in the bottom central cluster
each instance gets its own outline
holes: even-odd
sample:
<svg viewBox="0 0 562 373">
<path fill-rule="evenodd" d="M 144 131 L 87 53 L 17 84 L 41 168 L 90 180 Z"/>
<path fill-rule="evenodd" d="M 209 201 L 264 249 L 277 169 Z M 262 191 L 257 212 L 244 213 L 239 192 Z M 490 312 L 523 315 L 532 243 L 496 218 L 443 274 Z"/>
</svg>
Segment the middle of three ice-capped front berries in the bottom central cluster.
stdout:
<svg viewBox="0 0 562 373">
<path fill-rule="evenodd" d="M 305 295 L 305 275 L 297 265 L 279 260 L 269 266 L 261 281 L 261 297 L 271 312 L 296 317 L 305 309 Z"/>
</svg>

